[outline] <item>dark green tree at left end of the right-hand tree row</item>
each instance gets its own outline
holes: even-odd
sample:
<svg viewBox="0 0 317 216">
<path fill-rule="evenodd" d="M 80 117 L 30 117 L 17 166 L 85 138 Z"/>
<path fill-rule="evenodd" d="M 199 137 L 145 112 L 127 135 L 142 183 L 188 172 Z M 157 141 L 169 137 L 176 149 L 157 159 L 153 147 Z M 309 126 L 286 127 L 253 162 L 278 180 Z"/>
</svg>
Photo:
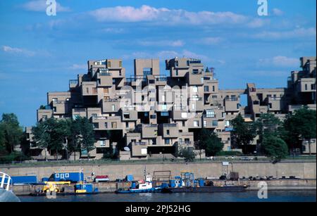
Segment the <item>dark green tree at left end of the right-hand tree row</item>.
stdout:
<svg viewBox="0 0 317 216">
<path fill-rule="evenodd" d="M 256 125 L 253 122 L 244 122 L 242 115 L 237 115 L 233 120 L 230 121 L 232 125 L 232 138 L 238 146 L 244 148 L 246 153 L 247 145 L 253 141 L 256 136 Z"/>
</svg>

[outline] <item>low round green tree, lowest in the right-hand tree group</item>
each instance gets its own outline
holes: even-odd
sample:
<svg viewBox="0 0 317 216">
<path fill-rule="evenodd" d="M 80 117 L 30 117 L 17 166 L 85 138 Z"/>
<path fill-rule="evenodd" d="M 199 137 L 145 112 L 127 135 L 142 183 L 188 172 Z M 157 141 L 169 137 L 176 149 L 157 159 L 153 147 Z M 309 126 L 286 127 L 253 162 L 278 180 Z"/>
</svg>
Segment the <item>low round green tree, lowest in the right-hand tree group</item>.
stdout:
<svg viewBox="0 0 317 216">
<path fill-rule="evenodd" d="M 265 136 L 262 147 L 264 153 L 275 163 L 288 155 L 287 144 L 277 136 Z"/>
</svg>

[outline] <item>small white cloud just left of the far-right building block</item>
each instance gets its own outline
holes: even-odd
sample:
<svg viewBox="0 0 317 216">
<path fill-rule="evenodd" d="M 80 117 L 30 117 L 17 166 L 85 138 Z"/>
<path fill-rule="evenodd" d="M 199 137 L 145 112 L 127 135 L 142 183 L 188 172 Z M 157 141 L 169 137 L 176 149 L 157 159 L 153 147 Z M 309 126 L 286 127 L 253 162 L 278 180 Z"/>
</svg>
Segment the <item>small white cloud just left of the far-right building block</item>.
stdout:
<svg viewBox="0 0 317 216">
<path fill-rule="evenodd" d="M 275 66 L 275 67 L 299 67 L 299 58 L 289 58 L 286 56 L 275 56 L 273 58 L 262 58 L 258 62 L 258 66 Z"/>
</svg>

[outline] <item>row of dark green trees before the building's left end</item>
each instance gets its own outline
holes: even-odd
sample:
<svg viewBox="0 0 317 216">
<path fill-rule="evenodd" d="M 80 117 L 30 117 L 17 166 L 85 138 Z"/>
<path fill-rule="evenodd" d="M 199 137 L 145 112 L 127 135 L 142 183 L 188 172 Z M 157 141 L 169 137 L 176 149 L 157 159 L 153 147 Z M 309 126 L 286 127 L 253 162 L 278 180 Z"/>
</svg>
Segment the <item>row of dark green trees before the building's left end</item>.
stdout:
<svg viewBox="0 0 317 216">
<path fill-rule="evenodd" d="M 94 149 L 94 129 L 86 117 L 72 119 L 49 118 L 43 122 L 38 122 L 32 128 L 35 145 L 45 148 L 55 153 L 58 160 L 58 153 L 66 152 L 66 159 L 69 153 L 89 151 Z M 46 151 L 45 151 L 46 159 Z"/>
</svg>

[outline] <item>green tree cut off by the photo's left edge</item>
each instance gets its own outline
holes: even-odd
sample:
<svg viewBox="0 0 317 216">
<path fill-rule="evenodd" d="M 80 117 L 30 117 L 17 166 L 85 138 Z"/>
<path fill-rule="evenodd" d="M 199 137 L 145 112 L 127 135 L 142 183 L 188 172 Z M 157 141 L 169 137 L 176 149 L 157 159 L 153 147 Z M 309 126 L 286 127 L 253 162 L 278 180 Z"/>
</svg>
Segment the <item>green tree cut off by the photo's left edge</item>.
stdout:
<svg viewBox="0 0 317 216">
<path fill-rule="evenodd" d="M 23 137 L 23 129 L 20 127 L 18 117 L 14 113 L 3 113 L 0 130 L 2 136 L 0 145 L 5 147 L 8 153 L 13 153 L 14 147 L 20 145 Z"/>
</svg>

